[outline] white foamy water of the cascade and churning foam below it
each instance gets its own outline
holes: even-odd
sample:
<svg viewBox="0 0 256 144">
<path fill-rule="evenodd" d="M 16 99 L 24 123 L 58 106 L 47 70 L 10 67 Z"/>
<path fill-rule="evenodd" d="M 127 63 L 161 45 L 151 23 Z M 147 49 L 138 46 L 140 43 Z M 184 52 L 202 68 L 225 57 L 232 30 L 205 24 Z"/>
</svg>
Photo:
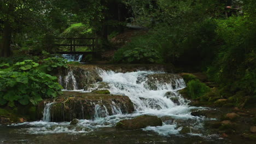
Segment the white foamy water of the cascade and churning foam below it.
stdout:
<svg viewBox="0 0 256 144">
<path fill-rule="evenodd" d="M 95 104 L 95 115 L 93 119 L 81 119 L 77 125 L 69 125 L 66 123 L 50 123 L 48 121 L 50 116 L 46 113 L 50 111 L 45 110 L 44 122 L 23 123 L 23 125 L 30 126 L 25 128 L 26 133 L 31 134 L 49 134 L 49 133 L 69 133 L 69 134 L 86 134 L 90 131 L 98 130 L 103 127 L 114 127 L 114 125 L 122 119 L 131 119 L 141 115 L 154 115 L 158 117 L 169 116 L 175 119 L 194 119 L 195 124 L 200 121 L 199 117 L 191 116 L 191 109 L 202 109 L 202 107 L 190 107 L 189 101 L 185 100 L 178 90 L 185 88 L 184 80 L 174 75 L 170 83 L 154 80 L 153 85 L 156 89 L 150 88 L 148 83 L 148 75 L 155 74 L 153 71 L 136 71 L 132 73 L 115 73 L 114 71 L 99 71 L 103 82 L 109 83 L 109 91 L 112 94 L 127 95 L 134 107 L 135 112 L 131 114 L 124 114 L 121 112 L 120 106 L 112 101 L 111 110 L 107 110 L 104 105 Z M 69 73 L 68 79 L 75 77 Z M 97 85 L 96 85 L 97 86 Z M 74 86 L 74 90 L 75 90 Z M 97 89 L 95 87 L 94 89 Z M 154 90 L 152 90 L 154 89 Z M 93 90 L 93 89 L 92 89 Z M 77 90 L 76 90 L 77 91 Z M 85 91 L 84 91 L 85 92 Z M 171 93 L 171 96 L 166 93 Z M 174 97 L 177 99 L 176 103 L 170 99 Z M 113 113 L 110 115 L 109 111 Z M 49 122 L 49 123 L 45 123 Z M 43 124 L 42 124 L 43 123 Z M 19 124 L 22 125 L 22 124 Z M 201 127 L 201 125 L 197 125 Z M 176 123 L 165 124 L 161 127 L 147 127 L 143 130 L 154 131 L 159 135 L 178 134 L 182 129 Z M 24 130 L 23 130 L 24 131 Z"/>
</svg>

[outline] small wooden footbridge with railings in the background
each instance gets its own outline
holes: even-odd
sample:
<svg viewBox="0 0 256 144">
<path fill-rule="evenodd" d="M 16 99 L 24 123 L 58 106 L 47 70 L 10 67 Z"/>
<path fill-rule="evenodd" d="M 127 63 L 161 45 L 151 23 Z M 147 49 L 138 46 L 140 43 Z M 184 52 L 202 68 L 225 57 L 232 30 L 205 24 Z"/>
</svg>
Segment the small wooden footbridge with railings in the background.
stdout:
<svg viewBox="0 0 256 144">
<path fill-rule="evenodd" d="M 98 45 L 97 38 L 53 38 L 57 53 L 60 54 L 95 54 Z M 82 48 L 78 48 L 82 47 Z M 77 50 L 79 49 L 79 50 Z"/>
</svg>

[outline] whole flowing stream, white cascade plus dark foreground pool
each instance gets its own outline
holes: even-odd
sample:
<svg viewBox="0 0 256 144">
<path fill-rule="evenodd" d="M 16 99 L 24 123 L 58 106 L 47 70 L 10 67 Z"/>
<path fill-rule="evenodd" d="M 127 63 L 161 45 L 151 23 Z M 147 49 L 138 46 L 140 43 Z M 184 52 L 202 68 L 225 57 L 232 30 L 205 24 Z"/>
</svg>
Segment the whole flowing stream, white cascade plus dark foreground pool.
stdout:
<svg viewBox="0 0 256 144">
<path fill-rule="evenodd" d="M 159 141 L 159 143 L 168 143 L 170 142 L 171 137 L 172 140 L 174 140 L 172 143 L 182 143 L 179 142 L 179 140 L 182 139 L 187 139 L 187 142 L 189 142 L 189 137 L 219 143 L 219 139 L 216 138 L 216 135 L 210 136 L 200 133 L 203 130 L 201 122 L 205 121 L 205 118 L 195 117 L 190 113 L 191 110 L 206 108 L 189 106 L 189 101 L 184 99 L 182 95 L 178 93 L 180 89 L 186 87 L 185 82 L 181 77 L 173 75 L 173 78 L 169 82 L 162 82 L 157 80 L 149 81 L 149 75 L 164 74 L 159 73 L 159 71 L 115 73 L 114 71 L 100 70 L 99 73 L 103 82 L 108 83 L 108 90 L 110 93 L 127 95 L 131 99 L 135 107 L 135 112 L 130 114 L 122 113 L 120 105 L 116 104 L 114 101 L 112 101 L 113 105 L 110 108 L 111 110 L 108 110 L 104 105 L 95 104 L 95 115 L 93 119 L 80 119 L 77 125 L 69 125 L 69 122 L 50 122 L 50 107 L 53 103 L 49 103 L 45 105 L 43 121 L 13 124 L 10 125 L 9 128 L 16 128 L 15 133 L 24 135 L 78 135 L 76 140 L 69 140 L 76 142 L 79 142 L 81 139 L 92 142 L 91 137 L 94 136 L 100 136 L 101 138 L 105 137 L 106 140 L 110 141 L 109 143 L 119 143 L 124 139 L 127 139 L 127 143 L 129 143 L 129 140 L 131 140 L 131 142 L 136 142 L 136 140 L 132 141 L 128 136 L 133 135 L 134 137 L 139 136 L 139 139 L 143 139 L 143 142 L 153 141 L 153 143 L 157 141 Z M 75 79 L 74 76 L 72 78 L 72 73 L 68 73 L 68 75 L 71 79 Z M 73 82 L 76 81 L 78 80 L 73 80 Z M 153 85 L 156 87 L 152 87 Z M 96 87 L 91 90 L 98 89 L 97 83 L 95 83 L 95 86 Z M 74 90 L 75 89 L 74 86 Z M 83 91 L 82 89 L 80 92 L 85 93 L 88 91 Z M 173 101 L 171 98 L 176 98 L 176 101 Z M 109 113 L 109 111 L 111 111 L 111 113 Z M 160 118 L 169 119 L 168 121 L 163 121 L 161 127 L 147 127 L 140 130 L 126 130 L 126 132 L 114 128 L 115 124 L 122 119 L 131 119 L 141 115 L 154 115 Z M 182 127 L 185 127 L 184 123 L 186 123 L 188 127 L 197 129 L 199 133 L 191 133 L 190 136 L 184 138 L 183 135 L 179 134 Z M 110 134 L 117 136 L 115 140 Z M 96 137 L 95 139 L 101 139 L 100 137 Z M 156 141 L 156 139 L 158 140 Z M 94 141 L 93 143 L 101 142 Z"/>
</svg>

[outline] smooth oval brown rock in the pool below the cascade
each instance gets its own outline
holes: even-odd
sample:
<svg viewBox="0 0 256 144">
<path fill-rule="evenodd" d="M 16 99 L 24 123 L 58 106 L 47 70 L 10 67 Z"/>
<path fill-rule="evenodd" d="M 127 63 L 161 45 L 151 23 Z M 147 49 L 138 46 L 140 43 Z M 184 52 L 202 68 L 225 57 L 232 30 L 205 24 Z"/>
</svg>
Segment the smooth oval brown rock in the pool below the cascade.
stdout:
<svg viewBox="0 0 256 144">
<path fill-rule="evenodd" d="M 117 128 L 123 129 L 142 129 L 148 126 L 157 127 L 162 126 L 162 121 L 156 116 L 139 116 L 133 119 L 125 119 L 117 123 Z"/>
</svg>

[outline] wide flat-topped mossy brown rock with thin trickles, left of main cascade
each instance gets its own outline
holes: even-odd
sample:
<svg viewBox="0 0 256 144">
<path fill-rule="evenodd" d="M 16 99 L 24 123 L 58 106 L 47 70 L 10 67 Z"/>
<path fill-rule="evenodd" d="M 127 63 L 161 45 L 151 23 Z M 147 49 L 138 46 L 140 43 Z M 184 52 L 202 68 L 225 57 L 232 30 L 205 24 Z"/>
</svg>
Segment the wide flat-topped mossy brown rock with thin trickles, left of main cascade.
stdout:
<svg viewBox="0 0 256 144">
<path fill-rule="evenodd" d="M 57 98 L 51 106 L 51 116 L 53 122 L 72 121 L 74 118 L 106 117 L 116 114 L 113 111 L 114 106 L 122 113 L 134 111 L 130 98 L 124 95 L 64 92 L 64 95 Z M 40 110 L 38 113 L 43 112 L 42 109 Z"/>
</svg>

